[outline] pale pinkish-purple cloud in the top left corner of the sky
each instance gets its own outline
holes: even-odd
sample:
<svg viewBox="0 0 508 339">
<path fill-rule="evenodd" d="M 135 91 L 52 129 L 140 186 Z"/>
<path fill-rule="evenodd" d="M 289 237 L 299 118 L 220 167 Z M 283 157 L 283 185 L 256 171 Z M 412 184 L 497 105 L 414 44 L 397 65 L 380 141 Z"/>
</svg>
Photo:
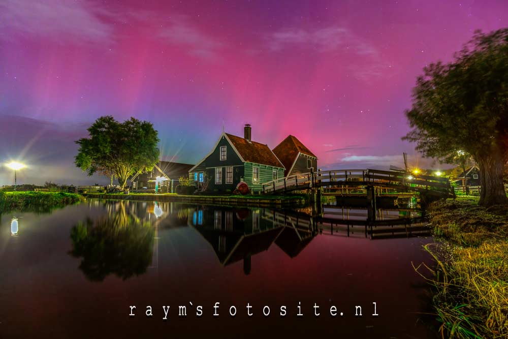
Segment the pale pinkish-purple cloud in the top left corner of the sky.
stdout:
<svg viewBox="0 0 508 339">
<path fill-rule="evenodd" d="M 0 39 L 49 39 L 60 44 L 112 43 L 113 27 L 99 5 L 84 1 L 4 0 L 0 2 Z M 8 32 L 8 33 L 6 33 Z"/>
</svg>

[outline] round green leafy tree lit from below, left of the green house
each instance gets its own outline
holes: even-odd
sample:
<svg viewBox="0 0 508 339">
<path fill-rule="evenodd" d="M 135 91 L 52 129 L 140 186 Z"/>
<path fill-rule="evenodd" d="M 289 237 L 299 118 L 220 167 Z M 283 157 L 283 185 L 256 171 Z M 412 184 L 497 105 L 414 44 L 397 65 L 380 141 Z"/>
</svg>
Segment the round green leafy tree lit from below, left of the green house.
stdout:
<svg viewBox="0 0 508 339">
<path fill-rule="evenodd" d="M 88 128 L 89 138 L 76 141 L 80 146 L 76 166 L 88 175 L 99 172 L 118 178 L 121 188 L 158 161 L 157 131 L 147 121 L 130 118 L 124 122 L 112 116 L 98 118 Z"/>
</svg>

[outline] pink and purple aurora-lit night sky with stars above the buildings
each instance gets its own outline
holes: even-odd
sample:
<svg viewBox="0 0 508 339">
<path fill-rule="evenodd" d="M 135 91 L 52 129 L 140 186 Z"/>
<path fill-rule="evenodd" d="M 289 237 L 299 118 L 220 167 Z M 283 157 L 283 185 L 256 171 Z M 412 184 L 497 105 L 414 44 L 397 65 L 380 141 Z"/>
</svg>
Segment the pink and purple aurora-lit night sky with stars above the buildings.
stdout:
<svg viewBox="0 0 508 339">
<path fill-rule="evenodd" d="M 322 168 L 438 168 L 400 138 L 422 68 L 508 26 L 499 1 L 0 1 L 0 162 L 22 183 L 94 183 L 74 140 L 101 115 L 149 120 L 196 163 L 223 128 L 288 134 Z M 12 172 L 0 166 L 0 185 Z"/>
</svg>

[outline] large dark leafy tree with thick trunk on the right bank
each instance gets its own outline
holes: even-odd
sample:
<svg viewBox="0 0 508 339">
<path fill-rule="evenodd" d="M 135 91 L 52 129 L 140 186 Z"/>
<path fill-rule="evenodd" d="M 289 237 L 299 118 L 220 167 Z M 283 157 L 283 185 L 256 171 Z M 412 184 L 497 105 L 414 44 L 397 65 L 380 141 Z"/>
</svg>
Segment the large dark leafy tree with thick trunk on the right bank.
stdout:
<svg viewBox="0 0 508 339">
<path fill-rule="evenodd" d="M 480 168 L 480 205 L 506 204 L 503 169 L 508 160 L 508 29 L 473 39 L 449 64 L 424 68 L 405 112 L 426 157 L 454 163 L 470 154 Z"/>
</svg>

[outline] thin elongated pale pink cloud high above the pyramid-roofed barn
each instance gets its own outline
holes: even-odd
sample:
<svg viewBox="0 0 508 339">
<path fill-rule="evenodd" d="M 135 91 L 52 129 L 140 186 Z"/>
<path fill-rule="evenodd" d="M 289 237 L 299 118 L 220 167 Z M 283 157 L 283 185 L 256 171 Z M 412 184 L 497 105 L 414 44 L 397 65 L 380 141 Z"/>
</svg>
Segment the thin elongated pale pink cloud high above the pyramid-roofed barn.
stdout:
<svg viewBox="0 0 508 339">
<path fill-rule="evenodd" d="M 320 29 L 286 28 L 267 37 L 268 48 L 280 51 L 287 48 L 315 49 L 318 52 L 348 50 L 358 55 L 376 55 L 377 50 L 351 30 L 330 26 Z"/>
</svg>

